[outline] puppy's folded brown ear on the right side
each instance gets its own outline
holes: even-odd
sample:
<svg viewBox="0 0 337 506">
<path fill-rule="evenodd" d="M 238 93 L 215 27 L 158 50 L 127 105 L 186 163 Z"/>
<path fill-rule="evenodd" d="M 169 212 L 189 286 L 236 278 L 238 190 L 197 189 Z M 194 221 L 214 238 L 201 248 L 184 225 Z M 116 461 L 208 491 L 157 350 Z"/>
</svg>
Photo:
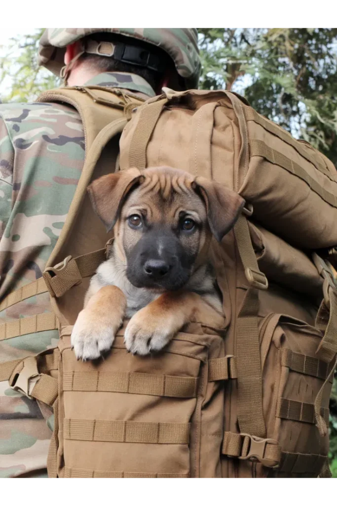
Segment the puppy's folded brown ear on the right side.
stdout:
<svg viewBox="0 0 337 506">
<path fill-rule="evenodd" d="M 221 242 L 235 225 L 245 200 L 230 188 L 205 178 L 197 178 L 194 186 L 205 201 L 211 232 Z"/>
</svg>

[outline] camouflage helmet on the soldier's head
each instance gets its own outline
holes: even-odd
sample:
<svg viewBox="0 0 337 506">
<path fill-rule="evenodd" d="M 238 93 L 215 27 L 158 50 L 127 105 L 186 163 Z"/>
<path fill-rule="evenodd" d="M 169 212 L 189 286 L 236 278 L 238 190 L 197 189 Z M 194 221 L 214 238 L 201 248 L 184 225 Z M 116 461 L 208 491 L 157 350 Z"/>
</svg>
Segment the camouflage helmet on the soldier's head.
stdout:
<svg viewBox="0 0 337 506">
<path fill-rule="evenodd" d="M 38 62 L 60 75 L 69 44 L 104 32 L 136 38 L 163 49 L 172 58 L 185 87 L 198 88 L 201 63 L 197 28 L 46 28 L 40 39 Z"/>
</svg>

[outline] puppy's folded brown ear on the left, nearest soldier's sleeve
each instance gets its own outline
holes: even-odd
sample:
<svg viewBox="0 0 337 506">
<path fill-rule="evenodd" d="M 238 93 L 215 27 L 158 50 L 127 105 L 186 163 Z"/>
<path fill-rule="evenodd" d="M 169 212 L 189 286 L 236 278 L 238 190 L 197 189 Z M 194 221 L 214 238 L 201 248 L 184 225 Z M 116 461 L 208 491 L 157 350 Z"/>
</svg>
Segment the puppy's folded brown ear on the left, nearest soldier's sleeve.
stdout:
<svg viewBox="0 0 337 506">
<path fill-rule="evenodd" d="M 126 195 L 142 177 L 137 168 L 129 168 L 127 171 L 102 176 L 88 186 L 94 212 L 103 221 L 108 232 L 117 221 Z"/>
</svg>

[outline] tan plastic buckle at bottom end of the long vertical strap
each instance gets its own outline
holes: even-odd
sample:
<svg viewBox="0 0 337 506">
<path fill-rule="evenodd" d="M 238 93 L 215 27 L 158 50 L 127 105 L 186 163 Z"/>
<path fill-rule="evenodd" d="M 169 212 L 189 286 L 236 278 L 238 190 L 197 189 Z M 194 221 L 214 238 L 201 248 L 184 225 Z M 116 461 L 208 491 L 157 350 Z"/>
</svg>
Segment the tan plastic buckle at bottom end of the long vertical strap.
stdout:
<svg viewBox="0 0 337 506">
<path fill-rule="evenodd" d="M 275 439 L 259 438 L 251 434 L 240 434 L 243 440 L 241 460 L 259 462 L 268 468 L 276 468 L 280 462 L 280 446 Z"/>
</svg>

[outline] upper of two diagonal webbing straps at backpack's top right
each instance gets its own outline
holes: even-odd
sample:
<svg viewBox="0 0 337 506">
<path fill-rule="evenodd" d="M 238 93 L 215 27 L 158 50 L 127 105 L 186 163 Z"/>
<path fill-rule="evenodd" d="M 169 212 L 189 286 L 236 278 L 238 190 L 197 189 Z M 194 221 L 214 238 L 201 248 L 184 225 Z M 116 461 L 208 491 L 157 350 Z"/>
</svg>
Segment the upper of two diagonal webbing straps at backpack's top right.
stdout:
<svg viewBox="0 0 337 506">
<path fill-rule="evenodd" d="M 331 173 L 328 171 L 325 165 L 320 163 L 318 159 L 310 154 L 306 149 L 304 149 L 301 146 L 301 143 L 294 139 L 294 137 L 291 136 L 291 134 L 288 134 L 285 130 L 283 130 L 280 126 L 276 125 L 272 121 L 269 121 L 268 119 L 261 116 L 259 113 L 255 111 L 252 107 L 244 107 L 245 111 L 245 117 L 246 121 L 255 121 L 259 125 L 261 125 L 265 130 L 270 132 L 273 135 L 276 135 L 279 139 L 281 139 L 286 144 L 289 144 L 293 148 L 296 149 L 296 151 L 303 156 L 306 160 L 310 161 L 319 172 L 327 176 L 331 181 L 334 183 L 337 183 L 336 179 L 333 178 Z M 318 154 L 318 153 L 317 153 Z"/>
</svg>

